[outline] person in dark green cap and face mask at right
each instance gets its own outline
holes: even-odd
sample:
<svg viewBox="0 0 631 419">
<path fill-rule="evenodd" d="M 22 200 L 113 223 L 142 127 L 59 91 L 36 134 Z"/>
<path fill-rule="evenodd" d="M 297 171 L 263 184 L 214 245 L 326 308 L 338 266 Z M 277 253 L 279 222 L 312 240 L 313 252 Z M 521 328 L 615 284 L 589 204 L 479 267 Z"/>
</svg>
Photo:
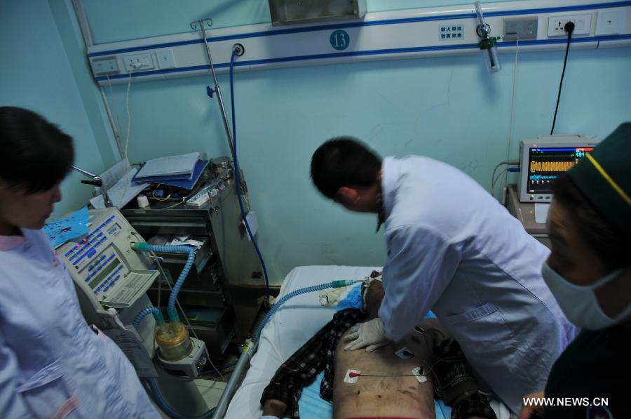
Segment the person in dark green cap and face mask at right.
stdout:
<svg viewBox="0 0 631 419">
<path fill-rule="evenodd" d="M 631 123 L 555 182 L 548 233 L 543 279 L 583 331 L 519 419 L 631 418 Z"/>
</svg>

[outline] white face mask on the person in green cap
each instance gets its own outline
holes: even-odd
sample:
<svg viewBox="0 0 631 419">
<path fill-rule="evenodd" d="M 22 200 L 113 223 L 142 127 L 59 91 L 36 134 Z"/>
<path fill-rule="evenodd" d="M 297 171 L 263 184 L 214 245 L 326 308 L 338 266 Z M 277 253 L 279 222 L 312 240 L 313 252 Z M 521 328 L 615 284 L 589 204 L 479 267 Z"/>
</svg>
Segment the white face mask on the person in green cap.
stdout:
<svg viewBox="0 0 631 419">
<path fill-rule="evenodd" d="M 559 307 L 563 310 L 567 319 L 576 326 L 588 330 L 597 331 L 618 324 L 631 314 L 631 302 L 613 319 L 602 311 L 594 290 L 616 279 L 623 270 L 615 270 L 590 285 L 575 285 L 557 274 L 544 263 L 541 268 L 543 280 L 548 285 L 552 295 L 555 296 Z"/>
</svg>

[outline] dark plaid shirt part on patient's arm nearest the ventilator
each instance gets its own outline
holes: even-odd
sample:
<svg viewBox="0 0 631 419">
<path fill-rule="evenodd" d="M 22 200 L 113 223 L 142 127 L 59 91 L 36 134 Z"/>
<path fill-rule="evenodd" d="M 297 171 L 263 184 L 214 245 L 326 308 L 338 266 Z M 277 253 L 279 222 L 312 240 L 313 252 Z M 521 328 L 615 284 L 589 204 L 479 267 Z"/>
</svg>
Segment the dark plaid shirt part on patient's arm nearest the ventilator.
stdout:
<svg viewBox="0 0 631 419">
<path fill-rule="evenodd" d="M 265 404 L 265 401 L 269 399 L 283 401 L 287 404 L 286 415 L 291 419 L 300 419 L 298 399 L 302 394 L 302 387 L 311 384 L 322 370 L 325 370 L 325 375 L 320 385 L 320 397 L 331 401 L 333 398 L 333 357 L 337 342 L 348 328 L 364 319 L 364 312 L 355 308 L 335 313 L 330 322 L 278 368 L 276 375 L 263 390 L 261 404 Z"/>
</svg>

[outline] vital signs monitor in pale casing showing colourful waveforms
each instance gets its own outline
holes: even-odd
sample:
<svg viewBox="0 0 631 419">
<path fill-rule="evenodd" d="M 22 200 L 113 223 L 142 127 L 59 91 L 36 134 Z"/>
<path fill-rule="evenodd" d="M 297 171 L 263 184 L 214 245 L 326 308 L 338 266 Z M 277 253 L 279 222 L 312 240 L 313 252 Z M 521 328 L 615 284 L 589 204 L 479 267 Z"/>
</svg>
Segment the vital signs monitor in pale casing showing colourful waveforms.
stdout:
<svg viewBox="0 0 631 419">
<path fill-rule="evenodd" d="M 555 179 L 599 142 L 584 135 L 539 135 L 536 140 L 520 141 L 520 201 L 550 203 Z"/>
</svg>

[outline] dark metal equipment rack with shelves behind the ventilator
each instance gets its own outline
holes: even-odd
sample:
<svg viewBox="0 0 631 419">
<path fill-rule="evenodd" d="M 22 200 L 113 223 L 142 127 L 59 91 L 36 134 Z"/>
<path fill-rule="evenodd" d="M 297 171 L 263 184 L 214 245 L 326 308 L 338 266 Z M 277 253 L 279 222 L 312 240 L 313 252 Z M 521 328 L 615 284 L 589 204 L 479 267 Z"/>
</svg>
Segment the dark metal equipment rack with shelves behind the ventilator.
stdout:
<svg viewBox="0 0 631 419">
<path fill-rule="evenodd" d="M 217 173 L 217 176 L 219 174 Z M 217 178 L 207 181 L 217 185 Z M 201 206 L 173 201 L 151 201 L 138 208 L 132 201 L 121 213 L 144 239 L 153 236 L 188 236 L 202 241 L 194 267 L 178 294 L 179 302 L 212 358 L 222 359 L 231 341 L 242 343 L 250 332 L 265 295 L 261 266 L 241 220 L 233 176 Z M 205 185 L 198 185 L 203 189 Z M 186 261 L 183 255 L 158 254 L 167 276 L 177 278 Z M 161 278 L 147 294 L 154 305 L 166 305 L 170 289 Z"/>
</svg>

